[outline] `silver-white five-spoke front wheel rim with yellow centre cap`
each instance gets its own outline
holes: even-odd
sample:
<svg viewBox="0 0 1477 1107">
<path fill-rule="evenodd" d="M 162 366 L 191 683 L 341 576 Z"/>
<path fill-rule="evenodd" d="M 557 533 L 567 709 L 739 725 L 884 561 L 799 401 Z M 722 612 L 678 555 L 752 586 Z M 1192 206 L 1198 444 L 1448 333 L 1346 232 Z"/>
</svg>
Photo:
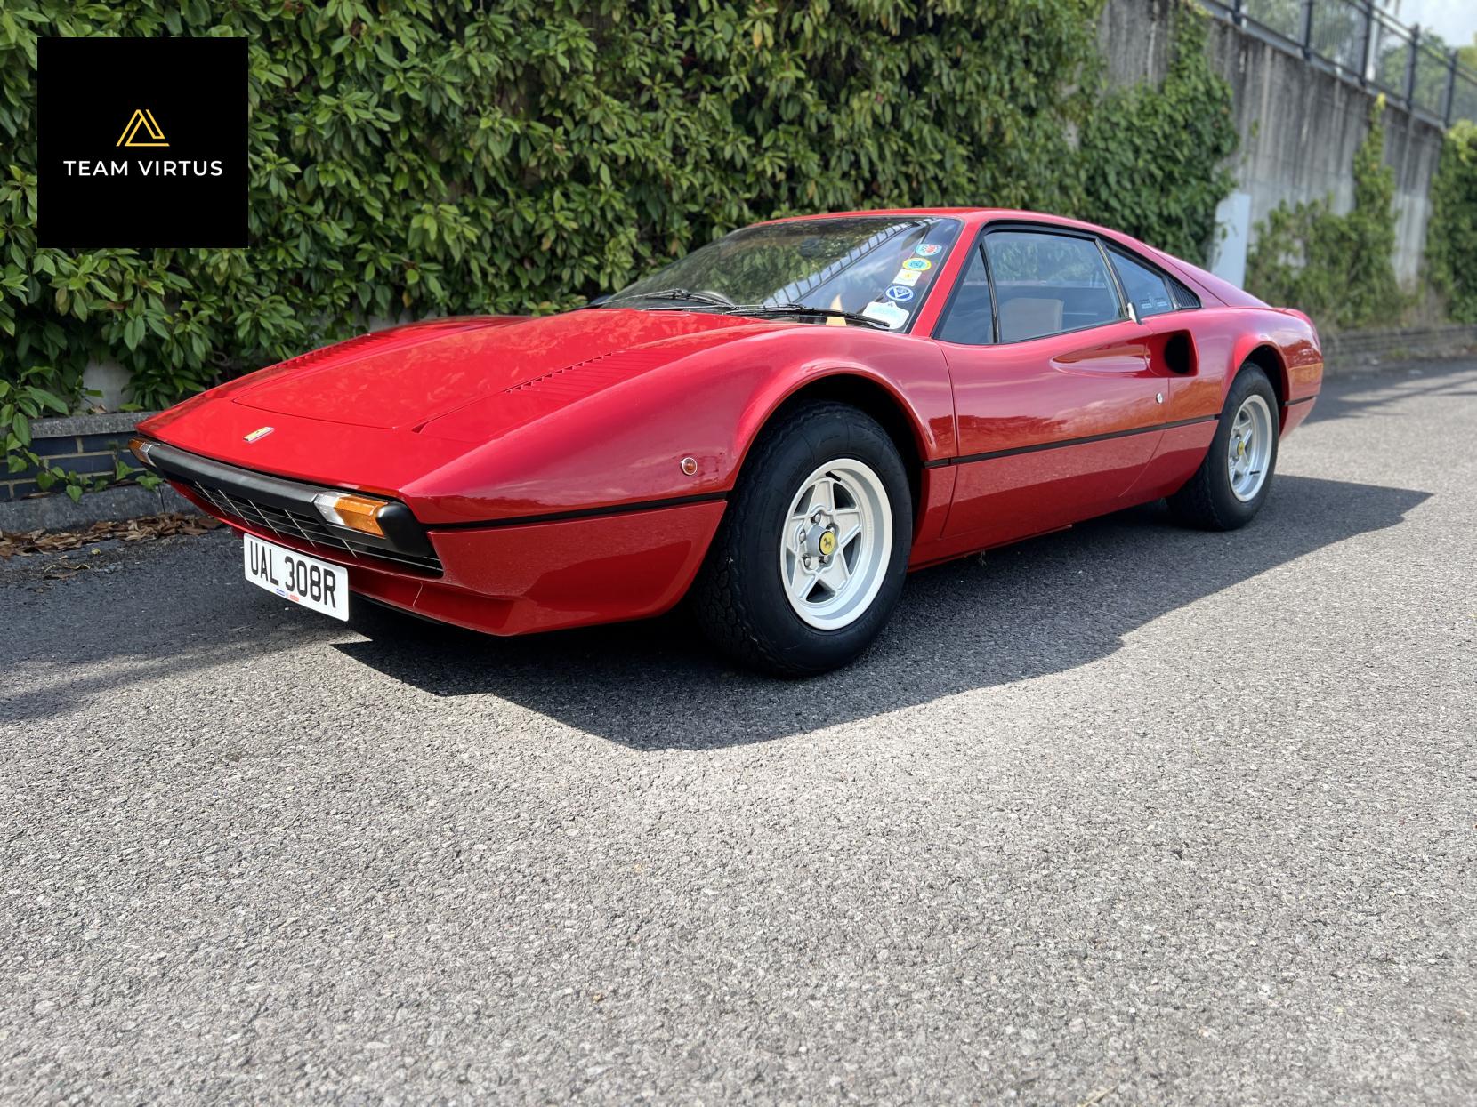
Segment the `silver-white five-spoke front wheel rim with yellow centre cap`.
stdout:
<svg viewBox="0 0 1477 1107">
<path fill-rule="evenodd" d="M 839 458 L 806 477 L 780 534 L 780 583 L 818 630 L 849 626 L 868 608 L 892 558 L 892 506 L 873 469 Z"/>
</svg>

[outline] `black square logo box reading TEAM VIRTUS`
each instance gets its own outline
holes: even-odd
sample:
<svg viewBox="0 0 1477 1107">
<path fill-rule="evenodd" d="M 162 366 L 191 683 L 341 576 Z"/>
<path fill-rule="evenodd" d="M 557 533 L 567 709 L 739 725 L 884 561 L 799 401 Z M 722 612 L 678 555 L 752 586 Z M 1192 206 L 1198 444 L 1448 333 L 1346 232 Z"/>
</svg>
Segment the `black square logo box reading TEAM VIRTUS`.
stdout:
<svg viewBox="0 0 1477 1107">
<path fill-rule="evenodd" d="M 41 246 L 247 245 L 245 38 L 37 49 Z"/>
</svg>

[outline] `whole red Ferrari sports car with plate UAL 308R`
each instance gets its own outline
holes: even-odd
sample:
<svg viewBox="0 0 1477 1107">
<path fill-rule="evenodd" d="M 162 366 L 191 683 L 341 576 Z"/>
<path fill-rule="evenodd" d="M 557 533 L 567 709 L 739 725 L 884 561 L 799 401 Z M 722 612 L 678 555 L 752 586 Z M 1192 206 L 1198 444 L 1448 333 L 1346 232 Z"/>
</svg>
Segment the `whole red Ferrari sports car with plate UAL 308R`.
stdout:
<svg viewBox="0 0 1477 1107">
<path fill-rule="evenodd" d="M 684 596 L 845 664 L 910 568 L 1167 496 L 1229 530 L 1319 390 L 1307 316 L 1024 211 L 762 223 L 588 307 L 352 338 L 140 425 L 248 580 L 495 635 Z"/>
</svg>

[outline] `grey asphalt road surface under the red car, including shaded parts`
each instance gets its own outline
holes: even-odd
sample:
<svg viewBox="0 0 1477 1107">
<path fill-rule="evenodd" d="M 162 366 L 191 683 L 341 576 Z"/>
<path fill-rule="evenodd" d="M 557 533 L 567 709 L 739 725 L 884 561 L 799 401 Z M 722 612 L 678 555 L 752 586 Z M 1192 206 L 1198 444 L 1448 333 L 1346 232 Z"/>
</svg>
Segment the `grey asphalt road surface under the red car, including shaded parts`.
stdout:
<svg viewBox="0 0 1477 1107">
<path fill-rule="evenodd" d="M 805 683 L 241 576 L 0 565 L 0 1098 L 1477 1098 L 1477 362 Z"/>
</svg>

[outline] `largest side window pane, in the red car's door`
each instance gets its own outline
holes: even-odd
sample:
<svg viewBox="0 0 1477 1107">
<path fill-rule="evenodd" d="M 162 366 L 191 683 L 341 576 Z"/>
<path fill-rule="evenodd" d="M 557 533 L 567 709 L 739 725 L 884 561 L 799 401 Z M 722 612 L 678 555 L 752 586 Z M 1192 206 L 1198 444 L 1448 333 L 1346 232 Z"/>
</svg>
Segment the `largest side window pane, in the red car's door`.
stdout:
<svg viewBox="0 0 1477 1107">
<path fill-rule="evenodd" d="M 1123 317 L 1097 242 L 1040 230 L 985 236 L 1000 341 L 1041 338 Z"/>
</svg>

